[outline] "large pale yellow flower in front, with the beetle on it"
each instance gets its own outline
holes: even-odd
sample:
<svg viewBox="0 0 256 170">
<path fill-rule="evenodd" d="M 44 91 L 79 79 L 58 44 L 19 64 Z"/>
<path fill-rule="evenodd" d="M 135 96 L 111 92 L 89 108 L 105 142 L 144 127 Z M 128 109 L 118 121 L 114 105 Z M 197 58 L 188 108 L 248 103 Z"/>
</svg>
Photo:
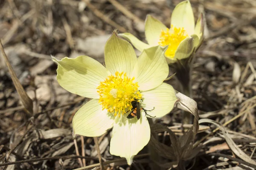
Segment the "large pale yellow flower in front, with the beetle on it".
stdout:
<svg viewBox="0 0 256 170">
<path fill-rule="evenodd" d="M 87 56 L 53 58 L 58 63 L 58 83 L 71 93 L 92 98 L 74 116 L 73 135 L 100 136 L 113 127 L 110 153 L 131 164 L 150 139 L 147 116 L 164 116 L 177 102 L 175 90 L 163 83 L 169 73 L 163 52 L 160 46 L 151 47 L 137 59 L 131 44 L 114 32 L 105 45 L 106 67 Z M 146 115 L 132 103 L 153 110 Z M 140 119 L 127 118 L 136 111 L 141 112 Z"/>
</svg>

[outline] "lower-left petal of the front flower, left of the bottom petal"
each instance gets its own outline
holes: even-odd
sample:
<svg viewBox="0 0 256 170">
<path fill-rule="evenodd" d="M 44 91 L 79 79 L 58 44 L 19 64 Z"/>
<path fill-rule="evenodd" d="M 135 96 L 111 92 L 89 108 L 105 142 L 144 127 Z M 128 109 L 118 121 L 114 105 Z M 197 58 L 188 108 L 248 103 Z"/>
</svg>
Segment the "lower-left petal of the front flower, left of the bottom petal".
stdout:
<svg viewBox="0 0 256 170">
<path fill-rule="evenodd" d="M 101 136 L 113 127 L 114 116 L 102 111 L 98 99 L 92 99 L 76 112 L 73 118 L 73 136 Z"/>
</svg>

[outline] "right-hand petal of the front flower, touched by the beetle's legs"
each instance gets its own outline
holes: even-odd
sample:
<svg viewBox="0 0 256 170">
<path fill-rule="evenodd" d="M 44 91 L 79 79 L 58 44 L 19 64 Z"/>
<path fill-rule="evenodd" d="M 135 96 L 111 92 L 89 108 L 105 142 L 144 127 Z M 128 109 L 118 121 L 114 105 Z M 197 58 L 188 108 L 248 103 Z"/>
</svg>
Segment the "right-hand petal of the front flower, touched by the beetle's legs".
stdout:
<svg viewBox="0 0 256 170">
<path fill-rule="evenodd" d="M 148 115 L 153 117 L 162 117 L 168 114 L 172 111 L 178 100 L 174 88 L 166 83 L 150 91 L 143 91 L 141 94 L 143 97 L 141 107 L 145 110 L 152 110 L 154 108 L 154 110 L 147 112 Z M 141 114 L 141 117 L 143 117 L 144 113 L 142 112 Z"/>
</svg>

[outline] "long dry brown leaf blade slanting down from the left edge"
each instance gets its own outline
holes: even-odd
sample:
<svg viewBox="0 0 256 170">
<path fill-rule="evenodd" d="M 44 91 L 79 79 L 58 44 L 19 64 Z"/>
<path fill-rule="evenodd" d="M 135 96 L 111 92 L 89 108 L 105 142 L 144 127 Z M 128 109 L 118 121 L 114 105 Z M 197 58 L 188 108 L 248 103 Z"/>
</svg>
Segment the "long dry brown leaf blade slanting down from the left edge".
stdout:
<svg viewBox="0 0 256 170">
<path fill-rule="evenodd" d="M 6 65 L 8 67 L 9 73 L 12 78 L 12 82 L 15 85 L 15 88 L 20 96 L 20 100 L 21 100 L 24 108 L 32 115 L 33 114 L 33 101 L 32 101 L 32 99 L 29 98 L 29 96 L 26 94 L 26 91 L 20 84 L 20 81 L 17 78 L 15 71 L 13 70 L 12 65 L 10 64 L 10 62 L 4 52 L 3 45 L 2 45 L 1 41 L 0 41 L 0 50 L 2 51 L 2 54 L 3 54 L 2 56 L 3 56 L 3 58 L 6 62 Z"/>
</svg>

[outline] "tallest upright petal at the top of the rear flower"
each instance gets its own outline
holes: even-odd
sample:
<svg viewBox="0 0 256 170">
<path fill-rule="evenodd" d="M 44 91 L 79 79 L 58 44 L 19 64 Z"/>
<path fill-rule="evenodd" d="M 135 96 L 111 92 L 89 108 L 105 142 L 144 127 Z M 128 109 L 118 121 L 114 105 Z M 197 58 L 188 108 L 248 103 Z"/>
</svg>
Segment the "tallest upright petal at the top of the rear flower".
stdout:
<svg viewBox="0 0 256 170">
<path fill-rule="evenodd" d="M 195 19 L 189 0 L 179 3 L 172 11 L 171 25 L 183 27 L 189 35 L 194 34 Z"/>
</svg>

